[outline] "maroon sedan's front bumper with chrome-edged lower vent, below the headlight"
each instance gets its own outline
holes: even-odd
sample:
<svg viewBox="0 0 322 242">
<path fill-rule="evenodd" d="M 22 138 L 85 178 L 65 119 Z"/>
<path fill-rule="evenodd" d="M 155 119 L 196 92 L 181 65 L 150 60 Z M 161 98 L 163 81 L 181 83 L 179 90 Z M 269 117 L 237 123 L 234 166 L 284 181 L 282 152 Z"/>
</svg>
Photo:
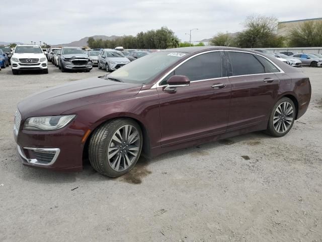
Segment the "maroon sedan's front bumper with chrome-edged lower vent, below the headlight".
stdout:
<svg viewBox="0 0 322 242">
<path fill-rule="evenodd" d="M 79 171 L 83 169 L 82 138 L 85 131 L 74 121 L 56 131 L 23 130 L 24 119 L 14 128 L 17 153 L 23 165 L 51 170 Z M 16 121 L 15 121 L 16 122 Z"/>
</svg>

